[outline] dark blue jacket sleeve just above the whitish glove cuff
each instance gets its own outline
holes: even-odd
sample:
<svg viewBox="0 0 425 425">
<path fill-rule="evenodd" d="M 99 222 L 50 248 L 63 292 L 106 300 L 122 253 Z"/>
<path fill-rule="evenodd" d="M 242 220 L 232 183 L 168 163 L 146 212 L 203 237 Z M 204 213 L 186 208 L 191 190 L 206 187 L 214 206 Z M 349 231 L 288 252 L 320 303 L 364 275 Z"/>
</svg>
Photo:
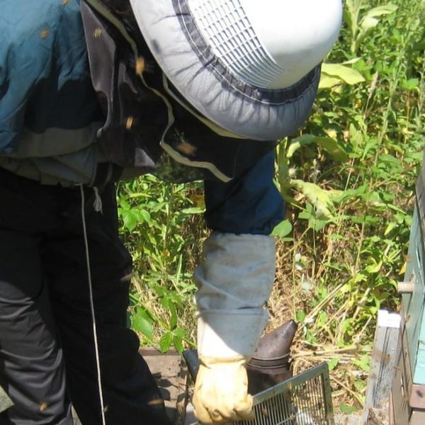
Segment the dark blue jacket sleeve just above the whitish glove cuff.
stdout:
<svg viewBox="0 0 425 425">
<path fill-rule="evenodd" d="M 229 183 L 205 181 L 205 220 L 217 232 L 270 234 L 283 220 L 283 198 L 273 182 L 274 151 Z"/>
</svg>

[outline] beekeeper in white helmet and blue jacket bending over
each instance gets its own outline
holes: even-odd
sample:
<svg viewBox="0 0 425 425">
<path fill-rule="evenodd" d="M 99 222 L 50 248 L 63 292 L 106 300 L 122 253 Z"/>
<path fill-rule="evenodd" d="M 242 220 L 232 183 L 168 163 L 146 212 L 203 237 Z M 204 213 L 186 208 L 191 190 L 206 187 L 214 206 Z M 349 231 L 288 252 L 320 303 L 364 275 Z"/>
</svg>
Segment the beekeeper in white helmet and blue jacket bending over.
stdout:
<svg viewBox="0 0 425 425">
<path fill-rule="evenodd" d="M 274 147 L 307 119 L 341 0 L 0 0 L 0 425 L 168 424 L 126 328 L 114 182 L 205 181 L 203 424 L 251 417 L 283 219 Z"/>
</svg>

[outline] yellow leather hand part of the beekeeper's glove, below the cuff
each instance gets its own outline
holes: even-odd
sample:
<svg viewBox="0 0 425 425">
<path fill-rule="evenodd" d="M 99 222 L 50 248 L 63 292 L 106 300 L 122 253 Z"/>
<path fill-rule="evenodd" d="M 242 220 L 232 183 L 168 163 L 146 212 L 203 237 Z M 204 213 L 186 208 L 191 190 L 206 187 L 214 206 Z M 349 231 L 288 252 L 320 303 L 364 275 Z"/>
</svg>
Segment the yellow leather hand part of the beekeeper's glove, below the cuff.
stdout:
<svg viewBox="0 0 425 425">
<path fill-rule="evenodd" d="M 200 357 L 193 392 L 195 416 L 201 424 L 227 424 L 254 419 L 248 394 L 246 358 Z"/>
</svg>

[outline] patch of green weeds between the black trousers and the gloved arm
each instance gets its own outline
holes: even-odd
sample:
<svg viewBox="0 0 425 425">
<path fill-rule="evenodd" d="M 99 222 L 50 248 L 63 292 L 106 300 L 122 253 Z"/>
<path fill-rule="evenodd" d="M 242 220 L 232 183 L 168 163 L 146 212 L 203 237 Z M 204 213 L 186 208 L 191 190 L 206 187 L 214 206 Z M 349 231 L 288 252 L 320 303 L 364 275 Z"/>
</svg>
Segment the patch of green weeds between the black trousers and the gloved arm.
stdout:
<svg viewBox="0 0 425 425">
<path fill-rule="evenodd" d="M 200 204 L 200 205 L 197 205 Z M 164 183 L 143 176 L 118 187 L 118 215 L 134 263 L 130 325 L 144 344 L 182 351 L 195 341 L 191 272 L 203 227 L 200 183 Z"/>
</svg>

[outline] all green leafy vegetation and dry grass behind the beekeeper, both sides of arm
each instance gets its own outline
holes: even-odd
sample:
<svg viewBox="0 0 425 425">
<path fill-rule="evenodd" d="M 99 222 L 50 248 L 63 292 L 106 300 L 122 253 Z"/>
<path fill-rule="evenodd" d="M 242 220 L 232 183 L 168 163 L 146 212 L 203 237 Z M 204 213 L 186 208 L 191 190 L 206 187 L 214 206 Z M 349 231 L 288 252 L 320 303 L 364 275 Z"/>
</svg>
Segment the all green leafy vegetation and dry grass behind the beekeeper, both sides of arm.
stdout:
<svg viewBox="0 0 425 425">
<path fill-rule="evenodd" d="M 425 3 L 346 0 L 310 120 L 277 152 L 286 220 L 270 327 L 296 318 L 295 373 L 328 361 L 341 410 L 361 407 L 376 314 L 396 310 L 424 148 Z M 202 186 L 145 176 L 118 188 L 143 344 L 191 346 Z"/>
</svg>

